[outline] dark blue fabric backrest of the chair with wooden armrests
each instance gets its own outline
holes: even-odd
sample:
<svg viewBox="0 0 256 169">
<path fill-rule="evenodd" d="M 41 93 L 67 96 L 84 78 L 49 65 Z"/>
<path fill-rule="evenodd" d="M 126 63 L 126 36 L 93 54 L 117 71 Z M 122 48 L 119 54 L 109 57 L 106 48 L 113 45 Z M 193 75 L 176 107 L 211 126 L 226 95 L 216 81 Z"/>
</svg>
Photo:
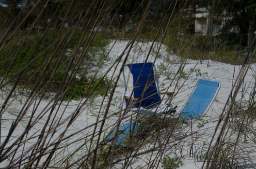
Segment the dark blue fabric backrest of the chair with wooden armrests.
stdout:
<svg viewBox="0 0 256 169">
<path fill-rule="evenodd" d="M 135 107 L 153 108 L 160 104 L 154 76 L 153 63 L 135 63 L 127 65 L 133 76 L 133 96 L 138 98 Z"/>
</svg>

